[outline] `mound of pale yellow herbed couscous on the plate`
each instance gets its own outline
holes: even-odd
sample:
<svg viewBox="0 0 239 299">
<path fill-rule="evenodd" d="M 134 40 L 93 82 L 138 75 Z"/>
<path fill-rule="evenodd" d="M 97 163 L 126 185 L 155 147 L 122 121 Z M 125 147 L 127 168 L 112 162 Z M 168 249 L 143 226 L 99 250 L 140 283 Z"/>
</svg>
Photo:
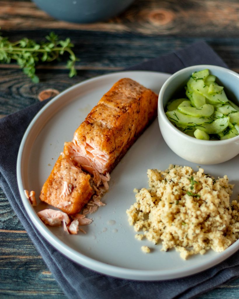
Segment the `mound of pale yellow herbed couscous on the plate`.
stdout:
<svg viewBox="0 0 239 299">
<path fill-rule="evenodd" d="M 213 178 L 202 168 L 169 165 L 148 170 L 149 188 L 136 190 L 136 202 L 126 211 L 135 231 L 162 250 L 175 248 L 186 259 L 212 248 L 220 252 L 239 237 L 239 203 L 230 205 L 234 185 L 228 177 Z M 138 238 L 141 239 L 141 238 Z"/>
</svg>

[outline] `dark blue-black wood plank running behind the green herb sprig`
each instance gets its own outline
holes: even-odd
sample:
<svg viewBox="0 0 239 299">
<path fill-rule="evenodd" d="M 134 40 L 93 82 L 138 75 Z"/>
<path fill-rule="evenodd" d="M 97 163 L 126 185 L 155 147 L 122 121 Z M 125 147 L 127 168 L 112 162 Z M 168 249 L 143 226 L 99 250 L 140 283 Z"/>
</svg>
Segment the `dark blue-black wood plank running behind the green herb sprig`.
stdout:
<svg viewBox="0 0 239 299">
<path fill-rule="evenodd" d="M 11 30 L 3 31 L 3 36 L 8 36 L 11 41 L 23 37 L 36 39 L 41 42 L 50 32 L 48 29 L 41 30 Z M 142 36 L 134 33 L 109 33 L 89 32 L 78 30 L 55 30 L 60 39 L 70 37 L 75 45 L 73 48 L 80 61 L 76 63 L 79 69 L 105 69 L 119 70 L 136 63 L 155 58 L 162 54 L 184 48 L 193 42 L 205 40 L 214 50 L 229 64 L 231 68 L 239 67 L 239 36 L 218 38 L 217 35 L 205 36 Z M 47 68 L 52 66 L 62 67 L 65 65 L 67 56 L 60 63 L 44 64 Z M 231 65 L 230 65 L 231 64 Z M 1 66 L 3 67 L 3 65 Z M 41 66 L 42 68 L 42 66 Z M 44 67 L 45 68 L 45 67 Z"/>
</svg>

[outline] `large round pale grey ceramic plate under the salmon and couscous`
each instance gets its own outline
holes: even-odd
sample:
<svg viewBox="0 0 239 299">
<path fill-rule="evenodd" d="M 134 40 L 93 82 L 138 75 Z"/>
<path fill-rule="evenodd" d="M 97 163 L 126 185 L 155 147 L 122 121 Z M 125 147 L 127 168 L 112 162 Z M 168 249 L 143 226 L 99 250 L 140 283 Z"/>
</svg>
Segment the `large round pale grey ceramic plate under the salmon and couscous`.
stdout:
<svg viewBox="0 0 239 299">
<path fill-rule="evenodd" d="M 24 189 L 35 190 L 39 196 L 42 185 L 79 124 L 96 105 L 102 95 L 119 79 L 129 77 L 159 92 L 168 74 L 145 71 L 125 71 L 95 77 L 79 83 L 59 94 L 36 115 L 30 123 L 19 149 L 17 178 L 23 204 L 34 225 L 55 248 L 70 259 L 104 274 L 137 280 L 165 280 L 197 273 L 216 265 L 239 249 L 235 242 L 222 253 L 212 250 L 184 261 L 175 250 L 160 251 L 161 245 L 134 238 L 133 227 L 128 225 L 126 209 L 135 201 L 134 188 L 148 186 L 147 169 L 164 170 L 168 164 L 196 164 L 175 155 L 164 142 L 157 120 L 129 149 L 111 173 L 109 192 L 102 201 L 106 206 L 89 215 L 94 222 L 84 226 L 87 234 L 67 235 L 62 227 L 45 226 L 36 212 L 48 207 L 40 203 L 33 208 L 24 196 Z M 212 153 L 213 154 L 213 153 Z M 238 194 L 239 157 L 223 164 L 205 166 L 205 172 L 214 176 L 227 174 L 236 183 Z M 201 165 L 203 166 L 203 165 Z M 236 196 L 235 196 L 236 197 Z M 142 245 L 152 252 L 145 254 Z"/>
</svg>

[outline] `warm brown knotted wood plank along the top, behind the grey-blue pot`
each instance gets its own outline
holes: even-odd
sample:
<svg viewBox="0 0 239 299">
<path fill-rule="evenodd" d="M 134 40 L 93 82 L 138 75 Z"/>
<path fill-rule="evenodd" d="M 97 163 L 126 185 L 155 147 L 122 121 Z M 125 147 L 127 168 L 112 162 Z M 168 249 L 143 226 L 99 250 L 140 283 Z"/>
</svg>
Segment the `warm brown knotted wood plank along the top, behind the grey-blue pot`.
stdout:
<svg viewBox="0 0 239 299">
<path fill-rule="evenodd" d="M 1 0 L 0 7 L 0 26 L 4 30 L 63 28 L 145 35 L 238 36 L 239 29 L 239 3 L 236 0 L 138 0 L 120 16 L 92 24 L 57 21 L 30 1 Z"/>
</svg>

